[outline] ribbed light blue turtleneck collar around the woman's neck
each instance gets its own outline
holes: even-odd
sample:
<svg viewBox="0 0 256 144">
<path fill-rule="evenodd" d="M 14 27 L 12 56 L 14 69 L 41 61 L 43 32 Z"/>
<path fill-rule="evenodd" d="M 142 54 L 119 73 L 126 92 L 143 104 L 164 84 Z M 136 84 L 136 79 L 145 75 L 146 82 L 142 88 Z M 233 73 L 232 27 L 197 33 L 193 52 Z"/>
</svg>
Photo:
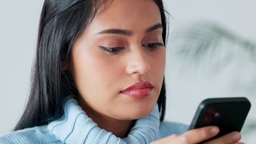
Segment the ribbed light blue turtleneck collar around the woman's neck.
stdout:
<svg viewBox="0 0 256 144">
<path fill-rule="evenodd" d="M 136 120 L 127 137 L 121 139 L 98 127 L 72 97 L 62 101 L 64 114 L 48 124 L 48 129 L 65 143 L 150 143 L 158 138 L 160 113 L 156 103 L 146 117 Z"/>
</svg>

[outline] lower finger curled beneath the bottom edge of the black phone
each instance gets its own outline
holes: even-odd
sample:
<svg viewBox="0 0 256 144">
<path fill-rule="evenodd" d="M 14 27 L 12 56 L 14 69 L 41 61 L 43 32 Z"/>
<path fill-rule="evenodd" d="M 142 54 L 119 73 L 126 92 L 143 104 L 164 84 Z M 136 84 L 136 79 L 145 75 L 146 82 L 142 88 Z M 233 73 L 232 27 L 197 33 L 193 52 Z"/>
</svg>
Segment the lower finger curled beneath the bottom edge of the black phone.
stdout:
<svg viewBox="0 0 256 144">
<path fill-rule="evenodd" d="M 207 141 L 205 144 L 213 144 L 213 143 L 235 143 L 241 140 L 241 134 L 238 131 L 234 131 L 232 133 L 221 136 L 217 139 Z"/>
</svg>

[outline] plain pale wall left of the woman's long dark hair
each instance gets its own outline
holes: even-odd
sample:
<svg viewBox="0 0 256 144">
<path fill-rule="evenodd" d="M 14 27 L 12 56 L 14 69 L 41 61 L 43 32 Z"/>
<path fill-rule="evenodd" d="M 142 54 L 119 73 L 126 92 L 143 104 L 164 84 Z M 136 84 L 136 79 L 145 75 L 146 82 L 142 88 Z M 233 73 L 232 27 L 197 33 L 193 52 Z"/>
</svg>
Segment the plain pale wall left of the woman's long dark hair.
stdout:
<svg viewBox="0 0 256 144">
<path fill-rule="evenodd" d="M 1 0 L 0 134 L 14 127 L 25 107 L 42 4 Z"/>
</svg>

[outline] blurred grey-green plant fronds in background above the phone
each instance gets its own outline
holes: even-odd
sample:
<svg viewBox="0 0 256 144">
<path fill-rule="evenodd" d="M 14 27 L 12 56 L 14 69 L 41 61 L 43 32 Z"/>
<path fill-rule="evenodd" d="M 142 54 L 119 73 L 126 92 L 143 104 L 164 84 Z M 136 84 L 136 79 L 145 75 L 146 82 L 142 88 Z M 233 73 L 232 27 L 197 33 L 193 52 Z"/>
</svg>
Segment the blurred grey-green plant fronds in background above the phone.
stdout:
<svg viewBox="0 0 256 144">
<path fill-rule="evenodd" d="M 242 134 L 256 131 L 256 115 L 252 115 L 256 111 L 255 41 L 239 37 L 217 23 L 203 21 L 179 32 L 168 47 L 171 49 L 167 55 L 174 57 L 176 63 L 176 76 L 184 77 L 193 71 L 200 77 L 210 77 L 207 80 L 216 86 L 214 91 L 224 97 L 247 97 L 252 107 Z"/>
</svg>

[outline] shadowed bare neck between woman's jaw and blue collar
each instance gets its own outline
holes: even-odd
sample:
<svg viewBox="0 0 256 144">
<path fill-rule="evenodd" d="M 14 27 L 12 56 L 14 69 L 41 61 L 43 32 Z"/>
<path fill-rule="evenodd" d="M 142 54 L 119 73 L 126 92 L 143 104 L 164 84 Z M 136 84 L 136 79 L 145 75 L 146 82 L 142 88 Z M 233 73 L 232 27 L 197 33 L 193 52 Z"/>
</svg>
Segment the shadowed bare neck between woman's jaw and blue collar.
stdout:
<svg viewBox="0 0 256 144">
<path fill-rule="evenodd" d="M 101 113 L 98 113 L 95 110 L 91 109 L 91 107 L 89 107 L 88 105 L 85 105 L 82 100 L 79 100 L 78 103 L 86 112 L 86 115 L 88 115 L 88 117 L 90 117 L 95 123 L 97 123 L 98 127 L 112 132 L 117 137 L 126 137 L 135 124 L 136 120 L 124 121 L 102 115 Z"/>
</svg>

